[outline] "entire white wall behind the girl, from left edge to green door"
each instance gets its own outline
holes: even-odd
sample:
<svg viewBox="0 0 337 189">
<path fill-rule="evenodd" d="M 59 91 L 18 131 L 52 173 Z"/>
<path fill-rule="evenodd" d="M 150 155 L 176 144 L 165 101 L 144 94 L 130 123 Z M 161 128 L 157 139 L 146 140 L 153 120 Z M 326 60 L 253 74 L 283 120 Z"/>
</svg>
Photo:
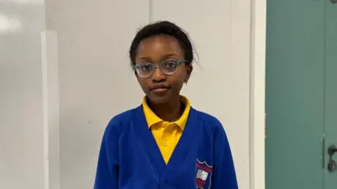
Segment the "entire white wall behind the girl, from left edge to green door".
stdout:
<svg viewBox="0 0 337 189">
<path fill-rule="evenodd" d="M 143 97 L 128 66 L 136 29 L 170 20 L 190 33 L 199 53 L 183 94 L 223 123 L 239 188 L 263 189 L 264 6 L 0 0 L 0 15 L 25 20 L 1 32 L 0 19 L 0 188 L 92 188 L 108 120 Z"/>
</svg>

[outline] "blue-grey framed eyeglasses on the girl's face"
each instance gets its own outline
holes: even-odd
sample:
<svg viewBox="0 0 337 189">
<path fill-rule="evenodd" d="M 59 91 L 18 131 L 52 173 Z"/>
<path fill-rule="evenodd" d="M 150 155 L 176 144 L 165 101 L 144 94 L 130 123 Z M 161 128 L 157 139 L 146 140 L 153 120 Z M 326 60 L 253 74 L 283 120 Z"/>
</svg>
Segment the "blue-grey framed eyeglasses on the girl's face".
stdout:
<svg viewBox="0 0 337 189">
<path fill-rule="evenodd" d="M 159 64 L 152 64 L 149 62 L 136 64 L 134 69 L 136 69 L 140 77 L 146 78 L 150 77 L 157 67 L 166 74 L 173 74 L 178 70 L 180 63 L 187 62 L 185 59 L 166 59 Z"/>
</svg>

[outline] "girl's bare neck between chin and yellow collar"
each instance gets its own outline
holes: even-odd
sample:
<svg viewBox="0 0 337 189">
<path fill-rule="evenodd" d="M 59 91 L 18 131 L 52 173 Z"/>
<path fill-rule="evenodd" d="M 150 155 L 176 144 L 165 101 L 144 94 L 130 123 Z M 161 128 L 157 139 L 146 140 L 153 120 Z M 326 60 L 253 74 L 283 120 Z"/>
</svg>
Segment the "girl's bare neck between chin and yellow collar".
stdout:
<svg viewBox="0 0 337 189">
<path fill-rule="evenodd" d="M 162 120 L 173 122 L 180 118 L 184 111 L 184 105 L 180 102 L 180 97 L 164 104 L 154 104 L 147 99 L 150 109 Z"/>
</svg>

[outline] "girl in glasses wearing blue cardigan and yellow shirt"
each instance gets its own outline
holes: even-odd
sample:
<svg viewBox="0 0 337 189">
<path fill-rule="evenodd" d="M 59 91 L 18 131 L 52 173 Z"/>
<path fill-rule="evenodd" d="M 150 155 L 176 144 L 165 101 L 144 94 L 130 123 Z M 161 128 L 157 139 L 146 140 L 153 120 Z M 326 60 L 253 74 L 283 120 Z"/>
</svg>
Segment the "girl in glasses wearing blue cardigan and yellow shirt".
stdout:
<svg viewBox="0 0 337 189">
<path fill-rule="evenodd" d="M 237 189 L 221 123 L 180 95 L 193 49 L 171 22 L 140 29 L 130 48 L 143 103 L 114 116 L 105 130 L 95 189 Z"/>
</svg>

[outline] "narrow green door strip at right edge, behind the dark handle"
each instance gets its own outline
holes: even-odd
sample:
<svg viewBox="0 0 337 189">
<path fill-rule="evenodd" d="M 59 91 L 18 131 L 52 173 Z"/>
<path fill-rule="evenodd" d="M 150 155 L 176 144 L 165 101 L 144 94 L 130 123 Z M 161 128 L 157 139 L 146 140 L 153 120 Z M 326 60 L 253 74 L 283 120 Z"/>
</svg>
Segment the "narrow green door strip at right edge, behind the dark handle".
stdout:
<svg viewBox="0 0 337 189">
<path fill-rule="evenodd" d="M 326 1 L 326 45 L 325 45 L 325 151 L 337 146 L 337 1 Z M 332 156 L 332 157 L 331 157 Z M 326 165 L 337 162 L 337 153 L 326 155 Z M 337 188 L 337 171 L 324 171 L 324 189 Z"/>
</svg>

